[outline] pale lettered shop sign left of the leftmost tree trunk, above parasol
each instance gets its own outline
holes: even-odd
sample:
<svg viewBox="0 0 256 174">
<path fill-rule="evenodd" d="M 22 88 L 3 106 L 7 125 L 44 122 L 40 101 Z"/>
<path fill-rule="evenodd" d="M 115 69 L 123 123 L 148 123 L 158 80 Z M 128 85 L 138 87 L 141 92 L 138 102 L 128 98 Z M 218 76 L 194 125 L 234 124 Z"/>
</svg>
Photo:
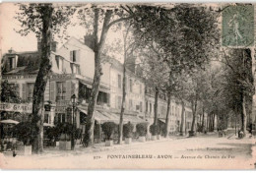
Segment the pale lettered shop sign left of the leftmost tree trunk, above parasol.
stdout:
<svg viewBox="0 0 256 174">
<path fill-rule="evenodd" d="M 32 104 L 0 103 L 1 111 L 32 113 Z"/>
</svg>

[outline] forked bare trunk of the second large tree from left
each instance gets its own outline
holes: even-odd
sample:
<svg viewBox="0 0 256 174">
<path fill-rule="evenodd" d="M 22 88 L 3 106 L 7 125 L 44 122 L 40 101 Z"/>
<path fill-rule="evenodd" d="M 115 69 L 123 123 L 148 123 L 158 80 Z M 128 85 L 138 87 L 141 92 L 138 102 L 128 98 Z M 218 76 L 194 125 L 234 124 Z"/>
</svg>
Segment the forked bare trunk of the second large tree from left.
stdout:
<svg viewBox="0 0 256 174">
<path fill-rule="evenodd" d="M 89 98 L 88 104 L 88 117 L 86 118 L 86 131 L 84 137 L 84 143 L 86 146 L 94 145 L 94 129 L 95 129 L 95 116 L 94 111 L 96 107 L 96 99 L 98 94 L 98 88 L 100 84 L 100 77 L 102 75 L 101 70 L 101 49 L 105 42 L 105 37 L 109 27 L 107 26 L 112 15 L 112 11 L 107 10 L 104 17 L 103 27 L 100 35 L 100 40 L 97 39 L 98 21 L 99 21 L 99 9 L 95 8 L 95 22 L 94 22 L 94 40 L 95 40 L 95 77 L 93 88 Z"/>
</svg>

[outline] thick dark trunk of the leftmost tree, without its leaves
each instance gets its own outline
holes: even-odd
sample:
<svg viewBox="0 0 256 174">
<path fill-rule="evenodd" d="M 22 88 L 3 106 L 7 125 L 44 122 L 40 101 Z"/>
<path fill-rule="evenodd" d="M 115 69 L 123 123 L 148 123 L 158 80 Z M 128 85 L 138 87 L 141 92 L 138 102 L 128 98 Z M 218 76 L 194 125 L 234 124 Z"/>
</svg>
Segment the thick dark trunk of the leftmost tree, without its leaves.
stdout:
<svg viewBox="0 0 256 174">
<path fill-rule="evenodd" d="M 32 94 L 33 153 L 41 153 L 43 150 L 44 90 L 51 69 L 49 58 L 50 43 L 52 41 L 52 12 L 53 8 L 50 4 L 40 7 L 42 21 L 40 68 L 36 76 Z"/>
</svg>

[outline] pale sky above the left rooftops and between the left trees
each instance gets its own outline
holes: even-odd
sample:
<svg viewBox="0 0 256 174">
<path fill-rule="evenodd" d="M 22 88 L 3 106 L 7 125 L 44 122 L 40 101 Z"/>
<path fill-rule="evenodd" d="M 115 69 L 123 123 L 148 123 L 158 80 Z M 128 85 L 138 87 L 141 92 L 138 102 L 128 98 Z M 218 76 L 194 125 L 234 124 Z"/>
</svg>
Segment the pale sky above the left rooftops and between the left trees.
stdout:
<svg viewBox="0 0 256 174">
<path fill-rule="evenodd" d="M 16 12 L 18 11 L 19 7 L 12 3 L 4 3 L 0 6 L 0 46 L 2 55 L 7 53 L 10 48 L 16 52 L 35 51 L 37 49 L 37 40 L 33 32 L 30 32 L 27 36 L 22 36 L 20 33 L 15 31 L 15 29 L 21 29 L 20 22 L 14 19 Z M 87 30 L 81 26 L 69 27 L 67 29 L 67 33 L 69 36 L 83 39 Z M 121 34 L 116 31 L 109 30 L 107 35 L 108 42 L 111 42 L 112 39 L 120 37 Z M 58 40 L 58 38 L 55 41 L 59 43 L 58 47 L 65 42 L 65 40 Z"/>
</svg>

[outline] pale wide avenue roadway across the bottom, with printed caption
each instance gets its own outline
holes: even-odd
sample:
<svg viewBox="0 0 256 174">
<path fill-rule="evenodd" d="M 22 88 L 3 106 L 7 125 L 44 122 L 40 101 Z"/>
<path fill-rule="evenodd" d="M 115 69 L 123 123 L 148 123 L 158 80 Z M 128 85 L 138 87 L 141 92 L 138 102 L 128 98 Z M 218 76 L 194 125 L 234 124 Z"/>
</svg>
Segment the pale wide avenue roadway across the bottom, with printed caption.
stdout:
<svg viewBox="0 0 256 174">
<path fill-rule="evenodd" d="M 237 140 L 232 135 L 231 132 L 225 138 L 218 138 L 217 133 L 194 138 L 173 137 L 114 145 L 97 152 L 79 148 L 32 156 L 6 155 L 1 157 L 1 166 L 40 169 L 156 169 L 156 166 L 160 169 L 253 169 L 256 162 L 255 139 Z"/>
</svg>

